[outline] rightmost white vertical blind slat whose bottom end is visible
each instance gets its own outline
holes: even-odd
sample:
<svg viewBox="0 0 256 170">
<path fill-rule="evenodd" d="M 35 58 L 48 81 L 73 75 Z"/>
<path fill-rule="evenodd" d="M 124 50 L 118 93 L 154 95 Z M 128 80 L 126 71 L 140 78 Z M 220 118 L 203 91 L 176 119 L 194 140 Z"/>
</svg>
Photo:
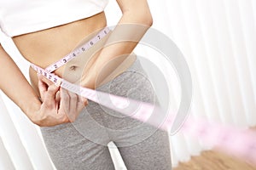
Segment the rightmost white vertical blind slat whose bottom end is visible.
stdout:
<svg viewBox="0 0 256 170">
<path fill-rule="evenodd" d="M 227 11 L 227 18 L 229 23 L 230 40 L 237 70 L 238 80 L 234 84 L 239 84 L 239 91 L 241 92 L 241 102 L 244 105 L 244 111 L 237 113 L 240 118 L 253 115 L 256 111 L 255 101 L 253 97 L 253 87 L 250 78 L 250 71 L 247 65 L 247 50 L 245 48 L 244 34 L 241 30 L 241 14 L 237 0 L 226 0 L 224 6 Z"/>
</svg>

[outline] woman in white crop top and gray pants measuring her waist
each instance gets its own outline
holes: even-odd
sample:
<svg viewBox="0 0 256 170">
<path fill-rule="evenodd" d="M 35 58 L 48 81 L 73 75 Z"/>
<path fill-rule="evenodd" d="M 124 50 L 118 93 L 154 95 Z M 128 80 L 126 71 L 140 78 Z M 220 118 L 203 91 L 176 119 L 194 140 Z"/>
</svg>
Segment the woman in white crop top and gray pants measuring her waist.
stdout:
<svg viewBox="0 0 256 170">
<path fill-rule="evenodd" d="M 1 3 L 1 29 L 25 59 L 42 68 L 107 26 L 107 0 Z M 154 90 L 137 57 L 129 55 L 152 25 L 148 3 L 117 3 L 123 15 L 113 31 L 54 73 L 85 88 L 108 93 L 110 89 L 117 95 L 125 96 L 132 89 L 129 97 L 154 102 Z M 114 169 L 109 141 L 119 147 L 128 169 L 171 169 L 167 133 L 56 87 L 32 69 L 30 85 L 2 47 L 0 63 L 1 90 L 41 127 L 57 169 Z M 15 88 L 9 88 L 10 84 Z"/>
</svg>

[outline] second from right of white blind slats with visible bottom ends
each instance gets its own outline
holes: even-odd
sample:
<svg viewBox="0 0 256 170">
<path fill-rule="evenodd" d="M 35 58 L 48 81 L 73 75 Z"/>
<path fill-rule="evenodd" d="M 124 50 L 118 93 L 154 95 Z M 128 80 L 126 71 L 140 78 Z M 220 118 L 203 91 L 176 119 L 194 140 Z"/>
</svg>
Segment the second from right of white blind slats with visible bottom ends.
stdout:
<svg viewBox="0 0 256 170">
<path fill-rule="evenodd" d="M 224 65 L 224 75 L 227 81 L 228 93 L 231 105 L 231 114 L 237 126 L 247 127 L 244 105 L 241 99 L 241 88 L 237 83 L 238 71 L 234 61 L 234 52 L 232 51 L 230 29 L 228 18 L 225 14 L 224 3 L 222 0 L 211 1 L 214 9 L 213 19 L 216 26 L 218 48 L 220 49 L 220 59 Z"/>
</svg>

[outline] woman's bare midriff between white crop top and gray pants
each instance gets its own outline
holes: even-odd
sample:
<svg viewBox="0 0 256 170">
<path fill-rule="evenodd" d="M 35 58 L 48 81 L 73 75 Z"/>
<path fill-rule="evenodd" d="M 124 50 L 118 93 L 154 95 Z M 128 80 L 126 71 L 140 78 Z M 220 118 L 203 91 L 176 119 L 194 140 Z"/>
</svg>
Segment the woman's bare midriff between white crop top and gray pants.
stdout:
<svg viewBox="0 0 256 170">
<path fill-rule="evenodd" d="M 104 12 L 91 16 L 83 20 L 77 20 L 62 26 L 55 26 L 53 28 L 45 29 L 43 31 L 36 31 L 17 37 L 12 37 L 16 47 L 20 50 L 20 54 L 31 63 L 42 68 L 55 63 L 65 55 L 78 48 L 82 43 L 89 41 L 98 31 L 107 26 L 107 20 Z M 107 39 L 107 38 L 105 38 Z M 102 40 L 104 41 L 104 40 Z M 99 42 L 95 49 L 104 45 L 104 42 Z M 99 53 L 93 51 L 94 47 L 89 52 L 80 54 L 76 59 L 70 61 L 67 65 L 61 66 L 54 73 L 59 77 L 64 77 L 67 81 L 75 82 L 76 76 L 79 77 L 81 69 L 89 59 L 96 57 Z M 136 55 L 130 55 L 124 62 L 115 65 L 118 69 L 109 72 L 102 83 L 109 82 L 121 72 L 125 71 L 136 59 Z M 93 65 L 93 63 L 90 63 Z M 90 65 L 86 65 L 90 67 Z M 30 69 L 29 71 L 32 86 L 38 93 L 38 77 L 37 73 Z M 66 78 L 67 75 L 67 78 Z M 73 75 L 73 76 L 72 76 Z"/>
</svg>

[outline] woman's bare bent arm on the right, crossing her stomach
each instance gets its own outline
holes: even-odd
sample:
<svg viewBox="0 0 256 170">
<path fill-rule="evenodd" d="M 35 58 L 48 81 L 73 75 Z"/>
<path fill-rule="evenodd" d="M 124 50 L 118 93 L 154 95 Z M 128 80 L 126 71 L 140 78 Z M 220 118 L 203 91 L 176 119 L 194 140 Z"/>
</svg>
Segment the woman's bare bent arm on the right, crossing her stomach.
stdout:
<svg viewBox="0 0 256 170">
<path fill-rule="evenodd" d="M 108 37 L 107 47 L 102 48 L 100 54 L 92 61 L 90 68 L 85 69 L 81 85 L 86 88 L 95 88 L 97 78 L 108 77 L 104 72 L 115 69 L 110 61 L 116 59 L 121 64 L 152 26 L 153 20 L 147 0 L 117 0 L 117 3 L 123 15 Z M 108 71 L 102 71 L 103 67 Z"/>
</svg>

